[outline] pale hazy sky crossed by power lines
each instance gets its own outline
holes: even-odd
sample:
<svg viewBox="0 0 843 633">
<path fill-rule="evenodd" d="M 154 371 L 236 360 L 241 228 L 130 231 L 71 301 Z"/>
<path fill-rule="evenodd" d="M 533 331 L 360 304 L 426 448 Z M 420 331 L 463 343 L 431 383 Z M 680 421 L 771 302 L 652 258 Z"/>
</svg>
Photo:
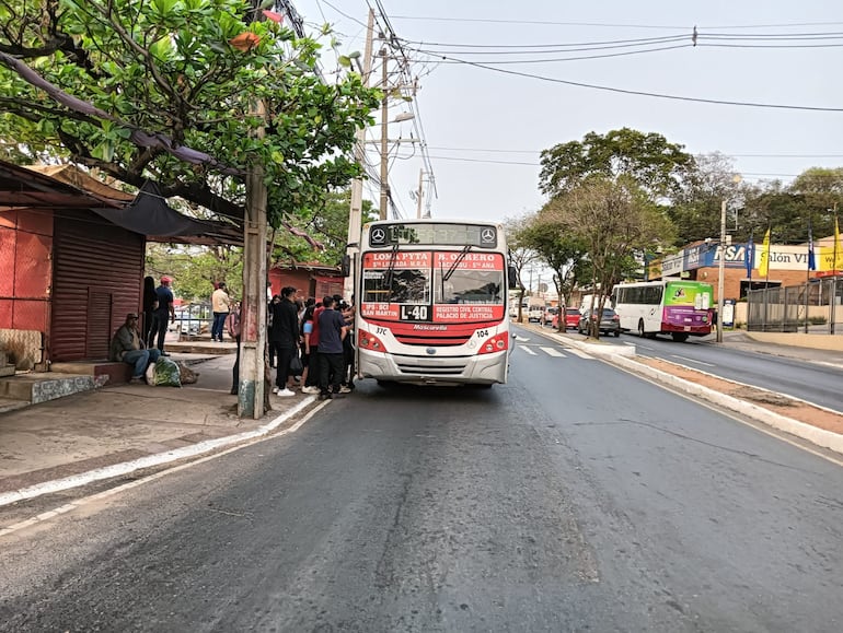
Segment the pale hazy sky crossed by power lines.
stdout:
<svg viewBox="0 0 843 633">
<path fill-rule="evenodd" d="M 328 80 L 337 54 L 363 50 L 370 5 L 378 23 L 383 26 L 385 14 L 402 40 L 417 85 L 413 104 L 391 103 L 388 118 L 416 115 L 388 125 L 389 138 L 401 140 L 390 143 L 388 164 L 402 218 L 418 213 L 419 176 L 422 212 L 432 218 L 505 221 L 538 211 L 545 201 L 539 190 L 541 151 L 622 127 L 660 133 L 692 154 L 720 152 L 749 183 L 787 184 L 812 166 L 843 166 L 839 0 L 292 4 L 307 28 L 328 23 L 337 33 L 336 48 L 323 55 Z M 380 77 L 376 59 L 372 82 Z M 759 105 L 658 98 L 564 82 Z M 374 115 L 379 121 L 380 113 Z M 411 134 L 420 142 L 408 142 Z M 367 130 L 367 139 L 380 139 L 379 125 Z M 379 145 L 366 146 L 377 175 Z M 367 183 L 365 197 L 377 209 L 378 185 Z M 392 210 L 389 216 L 394 218 Z"/>
</svg>

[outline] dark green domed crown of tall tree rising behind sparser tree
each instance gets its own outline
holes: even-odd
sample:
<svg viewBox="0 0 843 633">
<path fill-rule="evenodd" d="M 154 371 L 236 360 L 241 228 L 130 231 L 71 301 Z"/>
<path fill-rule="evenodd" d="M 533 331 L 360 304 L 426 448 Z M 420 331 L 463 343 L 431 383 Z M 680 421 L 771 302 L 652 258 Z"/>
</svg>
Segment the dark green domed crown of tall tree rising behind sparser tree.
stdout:
<svg viewBox="0 0 843 633">
<path fill-rule="evenodd" d="M 601 136 L 589 132 L 582 141 L 569 141 L 544 150 L 539 188 L 553 197 L 570 191 L 591 176 L 632 178 L 655 200 L 679 188 L 693 156 L 661 134 L 630 128 Z"/>
</svg>

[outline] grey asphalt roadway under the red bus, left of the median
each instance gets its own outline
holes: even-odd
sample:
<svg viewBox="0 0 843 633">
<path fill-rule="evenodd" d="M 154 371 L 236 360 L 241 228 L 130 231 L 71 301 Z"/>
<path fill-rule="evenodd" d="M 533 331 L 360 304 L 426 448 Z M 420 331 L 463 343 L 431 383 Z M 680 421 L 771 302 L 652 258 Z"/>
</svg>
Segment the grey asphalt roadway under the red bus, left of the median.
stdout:
<svg viewBox="0 0 843 633">
<path fill-rule="evenodd" d="M 511 370 L 15 532 L 0 631 L 843 629 L 840 464 L 547 341 Z"/>
</svg>

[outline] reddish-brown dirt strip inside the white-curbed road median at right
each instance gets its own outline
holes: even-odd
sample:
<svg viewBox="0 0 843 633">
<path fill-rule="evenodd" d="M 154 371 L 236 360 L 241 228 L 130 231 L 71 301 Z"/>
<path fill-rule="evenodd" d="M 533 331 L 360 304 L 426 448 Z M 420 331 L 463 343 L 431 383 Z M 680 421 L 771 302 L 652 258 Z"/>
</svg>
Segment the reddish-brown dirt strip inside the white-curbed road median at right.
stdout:
<svg viewBox="0 0 843 633">
<path fill-rule="evenodd" d="M 703 387 L 708 387 L 709 389 L 715 389 L 720 394 L 750 401 L 753 405 L 769 409 L 770 411 L 774 411 L 786 418 L 810 424 L 811 426 L 824 429 L 832 433 L 843 434 L 843 415 L 834 413 L 833 411 L 820 409 L 819 407 L 794 400 L 793 398 L 781 394 L 772 394 L 763 389 L 739 385 L 731 380 L 716 378 L 703 372 L 697 372 L 690 367 L 659 359 L 636 356 L 635 362 L 649 365 L 650 367 L 660 370 L 677 376 L 678 378 L 682 378 L 683 380 L 695 383 Z"/>
</svg>

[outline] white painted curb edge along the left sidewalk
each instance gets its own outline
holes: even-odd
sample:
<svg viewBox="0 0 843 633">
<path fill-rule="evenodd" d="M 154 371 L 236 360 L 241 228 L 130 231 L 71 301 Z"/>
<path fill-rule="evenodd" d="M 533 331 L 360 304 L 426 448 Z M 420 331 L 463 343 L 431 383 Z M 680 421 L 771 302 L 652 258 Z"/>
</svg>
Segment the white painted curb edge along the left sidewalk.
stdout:
<svg viewBox="0 0 843 633">
<path fill-rule="evenodd" d="M 43 494 L 60 492 L 62 490 L 69 490 L 71 488 L 86 485 L 94 481 L 101 481 L 103 479 L 111 479 L 112 477 L 128 474 L 129 472 L 134 472 L 142 468 L 161 466 L 162 464 L 169 464 L 171 461 L 183 459 L 185 457 L 194 457 L 196 455 L 208 453 L 209 450 L 215 450 L 222 446 L 228 446 L 229 444 L 246 442 L 255 437 L 262 437 L 270 433 L 281 424 L 284 424 L 287 420 L 289 420 L 297 413 L 299 413 L 299 411 L 301 411 L 308 405 L 313 402 L 314 399 L 315 399 L 314 396 L 309 396 L 308 398 L 303 399 L 301 402 L 296 405 L 296 407 L 293 407 L 289 411 L 285 411 L 278 414 L 276 418 L 274 418 L 263 426 L 255 429 L 254 431 L 247 431 L 245 433 L 239 433 L 236 435 L 228 435 L 226 437 L 219 437 L 217 439 L 208 439 L 207 442 L 199 442 L 198 444 L 194 444 L 192 446 L 185 446 L 183 448 L 176 448 L 173 450 L 168 450 L 166 453 L 149 455 L 147 457 L 141 457 L 132 461 L 126 461 L 124 464 L 115 464 L 114 466 L 97 468 L 89 472 L 72 474 L 70 477 L 65 477 L 62 479 L 57 479 L 55 481 L 47 481 L 36 485 L 31 485 L 28 488 L 22 488 L 19 490 L 13 490 L 11 492 L 4 492 L 0 494 L 0 507 L 18 501 L 24 501 L 26 499 L 41 496 Z M 0 535 L 2 535 L 1 531 L 0 531 Z"/>
</svg>

